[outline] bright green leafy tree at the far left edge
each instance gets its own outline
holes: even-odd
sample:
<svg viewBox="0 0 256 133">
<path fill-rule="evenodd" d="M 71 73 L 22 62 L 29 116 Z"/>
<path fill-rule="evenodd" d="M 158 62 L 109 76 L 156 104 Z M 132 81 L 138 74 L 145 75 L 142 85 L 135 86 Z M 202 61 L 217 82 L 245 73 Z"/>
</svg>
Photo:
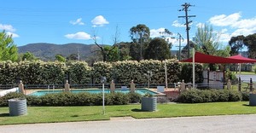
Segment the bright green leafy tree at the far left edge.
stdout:
<svg viewBox="0 0 256 133">
<path fill-rule="evenodd" d="M 17 61 L 18 49 L 11 35 L 0 32 L 0 61 Z"/>
</svg>

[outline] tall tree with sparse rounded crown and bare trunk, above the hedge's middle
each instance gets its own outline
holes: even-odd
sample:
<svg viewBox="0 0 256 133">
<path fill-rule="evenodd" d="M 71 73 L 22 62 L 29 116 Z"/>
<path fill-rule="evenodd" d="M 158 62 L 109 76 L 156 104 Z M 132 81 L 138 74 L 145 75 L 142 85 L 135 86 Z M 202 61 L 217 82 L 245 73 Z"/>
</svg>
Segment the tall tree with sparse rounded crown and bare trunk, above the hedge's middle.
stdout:
<svg viewBox="0 0 256 133">
<path fill-rule="evenodd" d="M 147 48 L 150 37 L 150 31 L 148 26 L 143 24 L 132 26 L 130 29 L 130 37 L 133 43 L 137 43 L 137 45 L 140 45 L 140 60 L 143 60 L 143 51 Z"/>
</svg>

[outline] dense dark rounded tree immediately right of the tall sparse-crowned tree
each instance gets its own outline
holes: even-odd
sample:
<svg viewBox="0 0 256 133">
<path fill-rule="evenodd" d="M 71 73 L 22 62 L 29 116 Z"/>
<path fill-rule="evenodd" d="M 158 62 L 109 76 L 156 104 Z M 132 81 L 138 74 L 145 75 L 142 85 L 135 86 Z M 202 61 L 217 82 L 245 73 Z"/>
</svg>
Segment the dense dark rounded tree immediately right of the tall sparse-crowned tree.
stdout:
<svg viewBox="0 0 256 133">
<path fill-rule="evenodd" d="M 145 50 L 145 59 L 163 61 L 171 57 L 171 44 L 163 38 L 154 38 Z"/>
</svg>

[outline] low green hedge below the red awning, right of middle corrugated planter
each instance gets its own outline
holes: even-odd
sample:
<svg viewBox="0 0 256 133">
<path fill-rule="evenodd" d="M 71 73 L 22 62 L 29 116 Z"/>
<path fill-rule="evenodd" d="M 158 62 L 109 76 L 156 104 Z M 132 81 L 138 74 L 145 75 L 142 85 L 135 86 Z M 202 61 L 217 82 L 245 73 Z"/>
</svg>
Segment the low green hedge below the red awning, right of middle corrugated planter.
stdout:
<svg viewBox="0 0 256 133">
<path fill-rule="evenodd" d="M 248 94 L 236 90 L 187 90 L 178 96 L 183 103 L 247 101 Z"/>
</svg>

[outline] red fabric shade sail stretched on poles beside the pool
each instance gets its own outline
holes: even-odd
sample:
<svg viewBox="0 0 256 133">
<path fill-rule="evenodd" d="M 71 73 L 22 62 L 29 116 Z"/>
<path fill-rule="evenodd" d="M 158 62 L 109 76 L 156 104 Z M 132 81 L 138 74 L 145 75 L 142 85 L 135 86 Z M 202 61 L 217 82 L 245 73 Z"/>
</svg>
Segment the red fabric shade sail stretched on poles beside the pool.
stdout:
<svg viewBox="0 0 256 133">
<path fill-rule="evenodd" d="M 193 59 L 189 58 L 181 62 L 192 62 Z M 215 56 L 215 55 L 206 55 L 200 52 L 195 52 L 195 62 L 197 63 L 217 63 L 217 64 L 228 64 L 228 63 L 254 63 L 256 60 L 243 57 L 241 55 L 230 56 L 228 58 Z"/>
</svg>

